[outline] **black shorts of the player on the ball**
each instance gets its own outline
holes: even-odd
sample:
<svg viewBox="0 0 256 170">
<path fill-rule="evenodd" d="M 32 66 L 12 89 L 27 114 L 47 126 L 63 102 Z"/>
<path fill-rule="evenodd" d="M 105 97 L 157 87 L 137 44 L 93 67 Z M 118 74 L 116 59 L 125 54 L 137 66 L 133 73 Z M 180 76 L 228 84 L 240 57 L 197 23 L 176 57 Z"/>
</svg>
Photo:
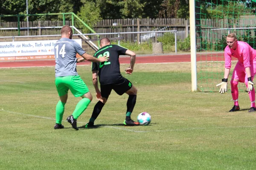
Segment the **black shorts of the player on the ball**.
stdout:
<svg viewBox="0 0 256 170">
<path fill-rule="evenodd" d="M 123 95 L 126 91 L 130 90 L 132 87 L 131 82 L 128 79 L 122 77 L 118 82 L 108 85 L 100 85 L 102 97 L 108 99 L 111 94 L 112 89 L 118 94 Z"/>
</svg>

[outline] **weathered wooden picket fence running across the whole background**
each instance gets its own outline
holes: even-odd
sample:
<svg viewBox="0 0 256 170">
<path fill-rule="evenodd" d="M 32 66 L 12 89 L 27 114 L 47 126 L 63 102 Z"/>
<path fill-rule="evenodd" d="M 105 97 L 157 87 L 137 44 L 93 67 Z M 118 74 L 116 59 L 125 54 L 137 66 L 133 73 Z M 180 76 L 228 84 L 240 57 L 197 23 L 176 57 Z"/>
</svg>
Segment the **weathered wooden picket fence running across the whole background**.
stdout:
<svg viewBox="0 0 256 170">
<path fill-rule="evenodd" d="M 71 25 L 71 21 L 66 21 L 67 25 Z M 48 27 L 63 26 L 63 21 L 32 21 L 29 27 Z M 76 28 L 82 30 L 81 24 L 75 22 Z M 26 22 L 20 22 L 20 27 L 26 27 Z M 212 30 L 213 28 L 246 28 L 256 27 L 256 19 L 201 19 L 201 37 L 204 41 L 217 41 L 222 36 L 227 35 L 228 30 Z M 17 22 L 0 22 L 0 28 L 17 28 Z M 116 20 L 100 20 L 93 26 L 93 30 L 97 33 L 111 32 L 135 32 L 135 31 L 167 31 L 177 30 L 177 38 L 184 40 L 189 34 L 189 20 L 184 18 L 165 18 L 165 19 L 116 19 Z M 247 30 L 230 30 L 238 35 L 248 33 Z M 251 31 L 254 36 L 254 30 Z M 17 36 L 17 30 L 0 30 L 0 37 Z M 30 29 L 29 35 L 49 35 L 60 34 L 60 29 Z M 27 30 L 21 30 L 20 35 L 27 35 Z M 145 34 L 140 34 L 142 37 Z M 126 41 L 134 42 L 137 40 L 137 34 L 124 34 L 122 37 Z M 101 36 L 102 37 L 102 36 Z M 116 35 L 107 35 L 104 37 L 113 38 Z"/>
</svg>

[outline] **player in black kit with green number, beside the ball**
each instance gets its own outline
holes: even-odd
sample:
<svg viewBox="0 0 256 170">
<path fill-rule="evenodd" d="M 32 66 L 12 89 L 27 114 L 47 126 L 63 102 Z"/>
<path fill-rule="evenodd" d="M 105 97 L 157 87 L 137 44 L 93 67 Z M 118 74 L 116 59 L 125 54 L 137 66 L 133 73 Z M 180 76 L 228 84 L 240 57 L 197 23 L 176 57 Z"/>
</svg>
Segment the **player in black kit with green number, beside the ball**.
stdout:
<svg viewBox="0 0 256 170">
<path fill-rule="evenodd" d="M 100 40 L 100 49 L 93 55 L 93 57 L 99 58 L 107 55 L 109 60 L 107 62 L 93 62 L 93 85 L 96 91 L 96 97 L 99 102 L 96 103 L 93 109 L 90 121 L 85 125 L 86 128 L 93 127 L 95 119 L 99 116 L 103 106 L 108 100 L 108 96 L 111 94 L 112 89 L 119 95 L 124 93 L 128 94 L 127 100 L 127 112 L 126 118 L 123 122 L 127 126 L 139 125 L 138 122 L 134 122 L 131 119 L 131 113 L 136 104 L 137 89 L 132 83 L 122 77 L 120 73 L 119 55 L 131 56 L 130 67 L 127 68 L 126 74 L 132 74 L 135 64 L 136 54 L 133 51 L 123 48 L 119 45 L 111 45 L 108 38 Z M 100 90 L 98 87 L 98 75 L 100 82 Z"/>
</svg>

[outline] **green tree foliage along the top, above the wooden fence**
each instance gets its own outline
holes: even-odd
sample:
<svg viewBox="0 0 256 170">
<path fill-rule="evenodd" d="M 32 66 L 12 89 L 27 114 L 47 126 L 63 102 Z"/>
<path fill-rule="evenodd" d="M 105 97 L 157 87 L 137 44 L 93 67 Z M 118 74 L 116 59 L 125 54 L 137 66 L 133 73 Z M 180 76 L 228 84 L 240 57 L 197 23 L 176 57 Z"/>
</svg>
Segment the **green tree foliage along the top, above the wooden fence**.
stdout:
<svg viewBox="0 0 256 170">
<path fill-rule="evenodd" d="M 29 14 L 74 12 L 87 20 L 121 18 L 189 18 L 189 0 L 28 0 Z M 237 18 L 244 7 L 256 11 L 252 0 L 195 0 L 204 18 Z M 85 7 L 85 4 L 92 8 Z M 87 11 L 84 11 L 84 10 Z M 223 12 L 220 12 L 223 11 Z M 96 14 L 97 12 L 97 14 Z M 92 14 L 90 14 L 92 13 Z M 26 0 L 0 0 L 0 14 L 26 14 Z M 91 19 L 88 17 L 92 17 Z M 97 18 L 96 18 L 97 17 Z M 62 16 L 30 17 L 57 20 Z M 70 19 L 67 16 L 67 19 Z M 13 20 L 1 18 L 1 20 Z M 26 20 L 26 17 L 21 18 Z"/>
</svg>

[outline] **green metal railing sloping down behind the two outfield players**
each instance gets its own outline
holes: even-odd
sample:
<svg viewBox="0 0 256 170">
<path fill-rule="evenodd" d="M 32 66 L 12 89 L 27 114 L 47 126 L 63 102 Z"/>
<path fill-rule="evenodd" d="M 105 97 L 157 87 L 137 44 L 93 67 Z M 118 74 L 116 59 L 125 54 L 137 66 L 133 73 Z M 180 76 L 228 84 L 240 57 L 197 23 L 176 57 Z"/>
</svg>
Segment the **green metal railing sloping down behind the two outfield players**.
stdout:
<svg viewBox="0 0 256 170">
<path fill-rule="evenodd" d="M 83 20 L 81 20 L 76 14 L 74 14 L 73 12 L 69 12 L 69 13 L 52 13 L 52 14 L 22 14 L 22 15 L 0 15 L 0 17 L 17 17 L 17 28 L 18 28 L 18 36 L 20 36 L 20 17 L 26 17 L 26 16 L 47 16 L 47 15 L 62 15 L 63 16 L 63 26 L 65 25 L 65 15 L 72 15 L 71 19 L 72 19 L 72 26 L 74 26 L 74 18 L 76 18 L 77 20 L 79 20 L 88 30 L 92 31 L 93 33 L 96 34 L 96 32 L 90 28 L 86 23 L 84 23 Z M 74 32 L 74 28 L 73 32 Z M 99 35 L 97 35 L 99 37 Z M 98 41 L 98 45 L 99 45 L 99 41 Z"/>
</svg>

